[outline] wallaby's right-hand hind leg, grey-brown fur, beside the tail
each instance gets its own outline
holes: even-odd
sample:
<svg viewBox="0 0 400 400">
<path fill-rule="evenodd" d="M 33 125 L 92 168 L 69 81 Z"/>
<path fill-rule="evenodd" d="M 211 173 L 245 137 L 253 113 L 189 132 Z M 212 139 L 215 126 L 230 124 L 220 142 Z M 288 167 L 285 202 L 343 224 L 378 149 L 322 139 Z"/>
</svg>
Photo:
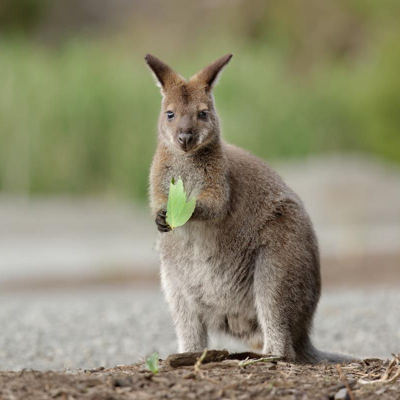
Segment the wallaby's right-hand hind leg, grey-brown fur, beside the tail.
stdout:
<svg viewBox="0 0 400 400">
<path fill-rule="evenodd" d="M 286 242 L 259 250 L 254 298 L 263 332 L 263 352 L 304 362 L 319 298 L 319 264 L 309 243 L 300 241 L 298 246 L 290 247 L 293 244 L 296 243 Z"/>
</svg>

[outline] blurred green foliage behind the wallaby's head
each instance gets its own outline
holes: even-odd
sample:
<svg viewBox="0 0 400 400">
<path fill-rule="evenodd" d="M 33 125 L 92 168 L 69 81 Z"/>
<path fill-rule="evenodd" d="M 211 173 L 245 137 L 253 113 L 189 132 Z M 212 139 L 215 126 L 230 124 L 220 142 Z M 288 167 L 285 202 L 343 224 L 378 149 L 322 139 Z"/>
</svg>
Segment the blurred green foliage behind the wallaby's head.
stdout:
<svg viewBox="0 0 400 400">
<path fill-rule="evenodd" d="M 240 40 L 226 30 L 160 56 L 188 76 L 233 52 L 215 88 L 223 136 L 263 158 L 351 151 L 400 162 L 396 3 L 383 12 L 353 0 L 333 31 L 316 32 L 288 4 L 237 14 Z M 52 48 L 0 38 L 0 189 L 144 200 L 160 96 L 143 54 L 110 39 Z"/>
</svg>

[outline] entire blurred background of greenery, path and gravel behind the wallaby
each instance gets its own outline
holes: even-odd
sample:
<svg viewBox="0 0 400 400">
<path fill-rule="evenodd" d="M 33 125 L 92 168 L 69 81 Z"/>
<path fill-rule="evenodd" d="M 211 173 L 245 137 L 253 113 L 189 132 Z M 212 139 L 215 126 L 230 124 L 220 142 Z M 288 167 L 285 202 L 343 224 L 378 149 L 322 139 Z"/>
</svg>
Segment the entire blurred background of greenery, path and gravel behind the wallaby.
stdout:
<svg viewBox="0 0 400 400">
<path fill-rule="evenodd" d="M 0 368 L 175 350 L 146 207 L 146 52 L 186 77 L 234 54 L 214 90 L 223 137 L 314 221 L 316 344 L 398 351 L 399 18 L 396 0 L 1 0 Z"/>
</svg>

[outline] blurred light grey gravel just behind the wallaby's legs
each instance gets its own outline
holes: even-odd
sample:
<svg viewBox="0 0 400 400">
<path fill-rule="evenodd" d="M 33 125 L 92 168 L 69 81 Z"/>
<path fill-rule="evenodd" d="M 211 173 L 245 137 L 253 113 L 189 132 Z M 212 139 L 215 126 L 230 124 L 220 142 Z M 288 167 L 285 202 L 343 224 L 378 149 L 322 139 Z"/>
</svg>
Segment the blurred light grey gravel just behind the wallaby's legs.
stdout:
<svg viewBox="0 0 400 400">
<path fill-rule="evenodd" d="M 0 326 L 1 370 L 111 367 L 175 351 L 167 309 L 154 287 L 2 294 Z M 314 342 L 362 357 L 400 351 L 400 291 L 325 292 Z M 210 347 L 242 349 L 222 339 Z"/>
</svg>

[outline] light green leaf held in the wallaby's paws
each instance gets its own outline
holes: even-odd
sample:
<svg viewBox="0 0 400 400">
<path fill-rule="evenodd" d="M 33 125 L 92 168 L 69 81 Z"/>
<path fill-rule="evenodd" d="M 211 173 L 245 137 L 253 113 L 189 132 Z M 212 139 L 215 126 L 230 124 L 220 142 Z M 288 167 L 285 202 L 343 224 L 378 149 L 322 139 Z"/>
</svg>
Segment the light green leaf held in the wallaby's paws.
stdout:
<svg viewBox="0 0 400 400">
<path fill-rule="evenodd" d="M 196 206 L 194 197 L 186 201 L 186 192 L 183 189 L 183 181 L 179 179 L 175 182 L 171 179 L 169 184 L 168 201 L 166 203 L 166 223 L 175 229 L 188 221 Z"/>
</svg>

